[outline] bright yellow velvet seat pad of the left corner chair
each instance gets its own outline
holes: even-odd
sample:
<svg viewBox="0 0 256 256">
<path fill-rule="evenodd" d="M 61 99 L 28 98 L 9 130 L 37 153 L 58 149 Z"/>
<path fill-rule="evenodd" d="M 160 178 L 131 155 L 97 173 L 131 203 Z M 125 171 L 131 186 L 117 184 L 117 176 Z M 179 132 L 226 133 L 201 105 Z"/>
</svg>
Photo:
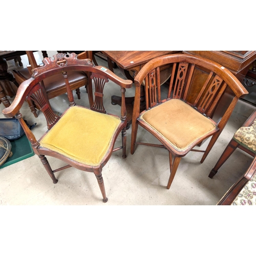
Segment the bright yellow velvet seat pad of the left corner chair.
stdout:
<svg viewBox="0 0 256 256">
<path fill-rule="evenodd" d="M 118 117 L 73 106 L 40 144 L 79 163 L 98 166 L 108 152 L 120 122 Z"/>
</svg>

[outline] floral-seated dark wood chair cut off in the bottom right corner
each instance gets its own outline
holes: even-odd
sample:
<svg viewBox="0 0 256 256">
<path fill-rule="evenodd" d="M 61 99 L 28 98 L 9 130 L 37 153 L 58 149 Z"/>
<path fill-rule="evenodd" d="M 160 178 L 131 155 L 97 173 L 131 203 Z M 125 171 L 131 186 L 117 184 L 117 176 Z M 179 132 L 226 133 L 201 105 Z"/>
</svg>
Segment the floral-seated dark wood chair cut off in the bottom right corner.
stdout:
<svg viewBox="0 0 256 256">
<path fill-rule="evenodd" d="M 246 173 L 229 188 L 217 205 L 256 205 L 256 157 Z"/>
</svg>

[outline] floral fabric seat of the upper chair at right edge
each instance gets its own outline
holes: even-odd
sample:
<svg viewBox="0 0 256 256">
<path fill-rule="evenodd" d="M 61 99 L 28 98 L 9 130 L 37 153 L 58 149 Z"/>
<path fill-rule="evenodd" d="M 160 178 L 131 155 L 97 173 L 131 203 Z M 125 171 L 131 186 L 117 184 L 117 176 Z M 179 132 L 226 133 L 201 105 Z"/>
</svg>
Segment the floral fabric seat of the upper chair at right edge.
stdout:
<svg viewBox="0 0 256 256">
<path fill-rule="evenodd" d="M 256 120 L 251 126 L 242 126 L 233 137 L 238 143 L 242 143 L 249 150 L 256 153 Z"/>
</svg>

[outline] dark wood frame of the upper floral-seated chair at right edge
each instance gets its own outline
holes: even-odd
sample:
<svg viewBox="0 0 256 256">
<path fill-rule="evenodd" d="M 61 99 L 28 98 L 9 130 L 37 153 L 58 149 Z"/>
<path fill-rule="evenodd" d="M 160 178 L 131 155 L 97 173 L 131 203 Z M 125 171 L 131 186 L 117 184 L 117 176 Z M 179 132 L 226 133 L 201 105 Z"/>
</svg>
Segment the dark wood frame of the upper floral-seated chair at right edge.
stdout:
<svg viewBox="0 0 256 256">
<path fill-rule="evenodd" d="M 249 116 L 249 118 L 244 122 L 242 126 L 248 127 L 251 126 L 252 123 L 256 119 L 256 110 L 253 111 L 253 113 Z M 251 151 L 248 147 L 244 146 L 243 144 L 238 143 L 236 140 L 233 138 L 229 141 L 228 145 L 226 146 L 224 152 L 220 156 L 219 160 L 217 161 L 216 165 L 214 168 L 209 173 L 209 178 L 213 178 L 217 173 L 219 168 L 227 161 L 227 159 L 233 154 L 233 152 L 237 149 L 240 148 L 240 150 L 246 152 L 252 157 L 255 157 L 255 153 Z"/>
</svg>

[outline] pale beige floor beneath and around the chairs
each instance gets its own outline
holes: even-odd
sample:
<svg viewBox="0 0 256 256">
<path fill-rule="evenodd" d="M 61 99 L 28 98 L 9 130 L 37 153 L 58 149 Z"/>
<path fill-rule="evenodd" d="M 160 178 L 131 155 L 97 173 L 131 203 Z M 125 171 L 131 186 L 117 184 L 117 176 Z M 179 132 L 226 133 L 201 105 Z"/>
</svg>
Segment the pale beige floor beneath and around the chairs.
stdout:
<svg viewBox="0 0 256 256">
<path fill-rule="evenodd" d="M 49 56 L 55 52 L 48 51 Z M 35 53 L 41 59 L 40 53 Z M 22 57 L 24 66 L 26 56 Z M 104 60 L 99 64 L 106 66 Z M 14 61 L 8 61 L 9 70 L 15 68 Z M 116 74 L 121 76 L 119 70 Z M 119 111 L 113 106 L 110 97 L 118 94 L 115 85 L 110 86 L 105 97 L 108 108 Z M 105 96 L 106 96 L 105 94 Z M 133 96 L 134 89 L 127 90 L 127 96 Z M 76 97 L 75 97 L 76 98 Z M 13 98 L 9 98 L 12 102 Z M 85 89 L 81 89 L 79 104 L 88 105 Z M 52 99 L 53 107 L 61 112 L 61 106 L 67 103 L 67 96 Z M 3 118 L 4 105 L 0 104 L 0 118 Z M 169 176 L 168 153 L 162 148 L 139 145 L 134 155 L 130 154 L 131 129 L 127 130 L 127 158 L 122 159 L 121 152 L 115 152 L 103 169 L 103 179 L 109 201 L 102 203 L 96 178 L 91 173 L 69 168 L 57 173 L 57 184 L 53 184 L 37 156 L 0 169 L 0 205 L 216 205 L 227 189 L 245 172 L 252 157 L 237 150 L 213 178 L 208 174 L 219 159 L 234 132 L 244 123 L 254 110 L 254 106 L 239 101 L 223 133 L 212 148 L 203 164 L 201 153 L 190 152 L 181 160 L 174 182 L 169 190 L 166 184 Z M 42 114 L 38 118 L 30 113 L 25 103 L 22 110 L 24 119 L 29 123 L 37 122 L 34 132 L 39 136 L 45 130 Z M 138 136 L 153 139 L 142 129 Z M 119 140 L 120 141 L 120 140 Z M 118 141 L 118 142 L 119 142 Z M 202 145 L 205 148 L 208 142 Z M 48 158 L 53 167 L 60 167 L 58 160 Z"/>
</svg>

